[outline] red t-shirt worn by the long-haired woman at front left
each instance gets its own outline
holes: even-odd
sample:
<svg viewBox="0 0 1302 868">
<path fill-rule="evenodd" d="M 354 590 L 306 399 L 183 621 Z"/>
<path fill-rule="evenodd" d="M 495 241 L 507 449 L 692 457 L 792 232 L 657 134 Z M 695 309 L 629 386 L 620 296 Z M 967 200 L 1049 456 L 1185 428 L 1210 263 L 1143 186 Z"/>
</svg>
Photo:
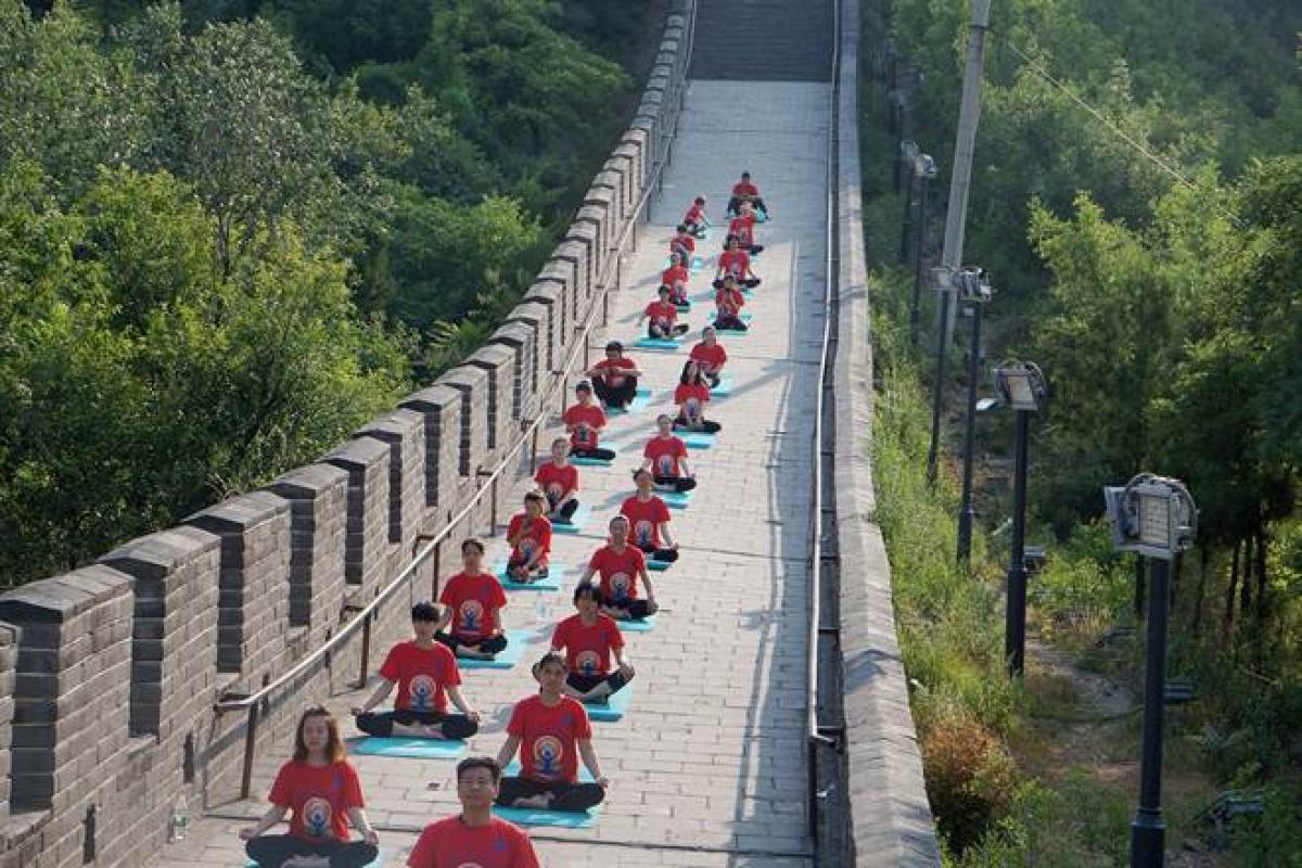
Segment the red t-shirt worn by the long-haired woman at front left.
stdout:
<svg viewBox="0 0 1302 868">
<path fill-rule="evenodd" d="M 267 800 L 289 808 L 289 834 L 312 843 L 348 841 L 348 809 L 366 807 L 362 782 L 348 760 L 329 765 L 290 760 L 280 766 Z"/>
</svg>

